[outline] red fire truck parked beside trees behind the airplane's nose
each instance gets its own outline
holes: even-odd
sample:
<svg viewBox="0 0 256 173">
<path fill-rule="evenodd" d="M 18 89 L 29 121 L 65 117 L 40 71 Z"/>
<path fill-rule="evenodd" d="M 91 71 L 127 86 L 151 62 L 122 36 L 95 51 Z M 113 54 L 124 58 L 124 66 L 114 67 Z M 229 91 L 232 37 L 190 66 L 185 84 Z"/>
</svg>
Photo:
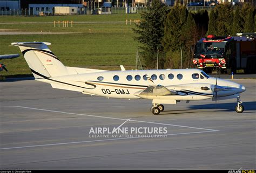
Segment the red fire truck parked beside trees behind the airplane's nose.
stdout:
<svg viewBox="0 0 256 173">
<path fill-rule="evenodd" d="M 194 50 L 193 64 L 211 73 L 219 67 L 221 73 L 256 73 L 256 33 L 239 36 L 201 38 Z"/>
</svg>

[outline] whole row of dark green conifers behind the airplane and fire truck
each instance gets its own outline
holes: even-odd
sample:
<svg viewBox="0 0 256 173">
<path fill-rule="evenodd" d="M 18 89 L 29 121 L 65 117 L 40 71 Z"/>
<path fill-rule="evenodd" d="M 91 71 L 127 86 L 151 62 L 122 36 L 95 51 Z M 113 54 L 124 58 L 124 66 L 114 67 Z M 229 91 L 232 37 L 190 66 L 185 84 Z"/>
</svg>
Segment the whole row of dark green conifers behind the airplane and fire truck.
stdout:
<svg viewBox="0 0 256 173">
<path fill-rule="evenodd" d="M 232 6 L 224 3 L 208 11 L 188 12 L 186 6 L 176 4 L 168 8 L 159 0 L 153 0 L 147 11 L 142 12 L 141 22 L 133 29 L 140 43 L 140 56 L 145 68 L 180 68 L 180 51 L 183 52 L 182 67 L 194 68 L 192 63 L 194 45 L 207 34 L 235 36 L 236 33 L 254 32 L 255 9 L 244 3 Z"/>
</svg>

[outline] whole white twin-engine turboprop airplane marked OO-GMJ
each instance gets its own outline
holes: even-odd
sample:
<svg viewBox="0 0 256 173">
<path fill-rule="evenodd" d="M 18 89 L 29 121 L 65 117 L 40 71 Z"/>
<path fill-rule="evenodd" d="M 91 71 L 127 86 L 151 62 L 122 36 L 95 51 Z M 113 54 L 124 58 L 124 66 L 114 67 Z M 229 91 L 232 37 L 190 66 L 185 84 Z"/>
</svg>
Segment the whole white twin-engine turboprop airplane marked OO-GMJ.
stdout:
<svg viewBox="0 0 256 173">
<path fill-rule="evenodd" d="M 224 79 L 212 78 L 199 69 L 104 71 L 66 67 L 45 42 L 12 43 L 18 46 L 35 80 L 51 84 L 53 88 L 83 94 L 119 99 L 150 99 L 151 111 L 158 115 L 163 104 L 185 100 L 237 98 L 236 112 L 241 113 L 240 93 L 245 87 Z M 218 82 L 218 83 L 217 83 Z"/>
</svg>

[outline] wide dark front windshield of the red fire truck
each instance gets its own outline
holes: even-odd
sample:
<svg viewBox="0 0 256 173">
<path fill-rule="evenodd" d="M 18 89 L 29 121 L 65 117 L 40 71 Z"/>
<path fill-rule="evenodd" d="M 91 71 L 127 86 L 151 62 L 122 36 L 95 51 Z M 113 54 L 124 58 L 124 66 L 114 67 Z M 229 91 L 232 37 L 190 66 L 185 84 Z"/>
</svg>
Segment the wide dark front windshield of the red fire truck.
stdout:
<svg viewBox="0 0 256 173">
<path fill-rule="evenodd" d="M 203 55 L 221 55 L 224 54 L 226 43 L 216 43 L 216 42 L 207 42 L 207 43 L 197 43 L 196 53 Z"/>
</svg>

